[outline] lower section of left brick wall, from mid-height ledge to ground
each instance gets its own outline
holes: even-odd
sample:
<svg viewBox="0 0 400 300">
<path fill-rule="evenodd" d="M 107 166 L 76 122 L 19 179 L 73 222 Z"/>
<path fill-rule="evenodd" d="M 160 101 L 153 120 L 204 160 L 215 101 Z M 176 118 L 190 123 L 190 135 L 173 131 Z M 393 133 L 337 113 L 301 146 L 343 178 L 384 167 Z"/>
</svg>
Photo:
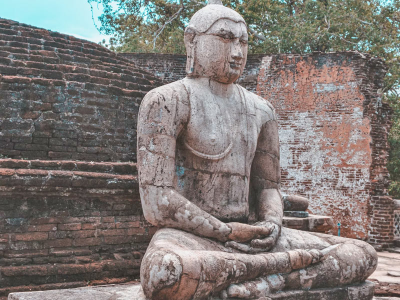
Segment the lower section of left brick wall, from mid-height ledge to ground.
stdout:
<svg viewBox="0 0 400 300">
<path fill-rule="evenodd" d="M 136 165 L 0 159 L 0 297 L 138 278 L 154 227 Z"/>
</svg>

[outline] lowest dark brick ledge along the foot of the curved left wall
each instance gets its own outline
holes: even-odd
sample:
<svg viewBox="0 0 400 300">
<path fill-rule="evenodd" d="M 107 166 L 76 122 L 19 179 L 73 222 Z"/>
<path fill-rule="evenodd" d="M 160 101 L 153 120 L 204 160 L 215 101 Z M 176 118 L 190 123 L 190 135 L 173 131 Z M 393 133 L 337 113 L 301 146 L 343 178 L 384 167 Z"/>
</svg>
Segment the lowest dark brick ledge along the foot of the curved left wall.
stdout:
<svg viewBox="0 0 400 300">
<path fill-rule="evenodd" d="M 32 285 L 40 289 L 52 289 L 65 288 L 64 282 L 69 282 L 68 287 L 88 285 L 94 280 L 100 280 L 100 284 L 103 284 L 107 278 L 126 282 L 138 278 L 139 268 L 140 260 L 135 259 L 1 267 L 0 286 L 6 287 L 0 288 L 0 296 L 25 287 L 29 290 Z"/>
</svg>

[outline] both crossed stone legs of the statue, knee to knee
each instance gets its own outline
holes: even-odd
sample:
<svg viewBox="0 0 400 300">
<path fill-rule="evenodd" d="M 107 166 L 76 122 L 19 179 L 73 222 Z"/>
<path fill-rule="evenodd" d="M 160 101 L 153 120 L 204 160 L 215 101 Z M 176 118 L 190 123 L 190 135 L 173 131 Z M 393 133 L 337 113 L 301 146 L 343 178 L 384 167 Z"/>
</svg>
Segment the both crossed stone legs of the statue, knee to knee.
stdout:
<svg viewBox="0 0 400 300">
<path fill-rule="evenodd" d="M 305 250 L 339 244 L 312 264 Z M 213 239 L 159 229 L 143 257 L 140 279 L 148 299 L 204 299 L 222 294 L 256 298 L 282 289 L 330 287 L 365 280 L 376 266 L 365 242 L 282 228 L 269 253 L 245 254 Z"/>
</svg>

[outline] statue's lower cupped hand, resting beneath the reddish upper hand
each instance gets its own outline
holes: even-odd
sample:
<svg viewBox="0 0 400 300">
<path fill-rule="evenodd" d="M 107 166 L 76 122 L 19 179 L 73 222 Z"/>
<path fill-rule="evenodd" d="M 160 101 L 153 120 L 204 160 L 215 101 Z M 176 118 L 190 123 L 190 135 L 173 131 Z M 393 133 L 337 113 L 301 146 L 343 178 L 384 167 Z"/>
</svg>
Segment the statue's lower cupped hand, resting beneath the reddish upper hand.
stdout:
<svg viewBox="0 0 400 300">
<path fill-rule="evenodd" d="M 228 241 L 225 243 L 226 247 L 234 248 L 245 253 L 259 253 L 269 251 L 275 244 L 280 234 L 280 226 L 273 222 L 262 221 L 256 222 L 254 226 L 272 227 L 272 232 L 264 238 L 254 238 L 249 244 L 239 243 L 235 241 Z"/>
</svg>

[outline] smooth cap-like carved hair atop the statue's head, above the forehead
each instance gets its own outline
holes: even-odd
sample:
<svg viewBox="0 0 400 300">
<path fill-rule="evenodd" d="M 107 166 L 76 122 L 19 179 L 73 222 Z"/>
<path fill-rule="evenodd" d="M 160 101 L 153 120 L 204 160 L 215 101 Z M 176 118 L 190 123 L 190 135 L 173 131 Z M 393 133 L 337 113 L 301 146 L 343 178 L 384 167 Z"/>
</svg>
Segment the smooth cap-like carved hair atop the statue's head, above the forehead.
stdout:
<svg viewBox="0 0 400 300">
<path fill-rule="evenodd" d="M 204 33 L 213 23 L 223 18 L 245 24 L 243 17 L 233 9 L 223 6 L 221 0 L 209 0 L 207 5 L 193 14 L 185 32 Z"/>
</svg>

